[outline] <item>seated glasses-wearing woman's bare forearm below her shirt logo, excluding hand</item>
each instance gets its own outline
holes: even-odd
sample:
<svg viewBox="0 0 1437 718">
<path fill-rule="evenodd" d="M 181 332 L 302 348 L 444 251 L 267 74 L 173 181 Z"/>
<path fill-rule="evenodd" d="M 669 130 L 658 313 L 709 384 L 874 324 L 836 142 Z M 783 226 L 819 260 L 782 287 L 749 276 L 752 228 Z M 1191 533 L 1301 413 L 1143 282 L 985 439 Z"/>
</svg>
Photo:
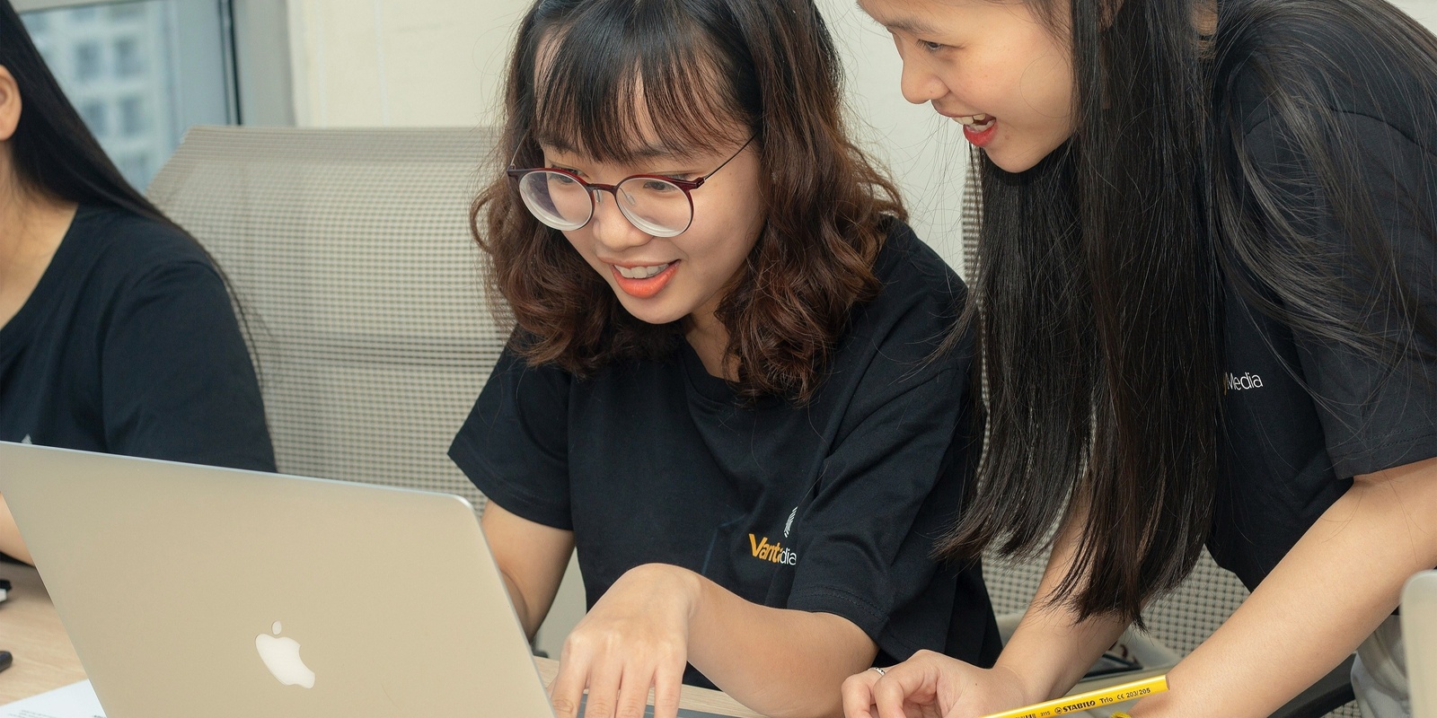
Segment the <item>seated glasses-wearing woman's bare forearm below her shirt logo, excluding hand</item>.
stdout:
<svg viewBox="0 0 1437 718">
<path fill-rule="evenodd" d="M 842 714 L 839 686 L 878 646 L 848 619 L 750 603 L 690 573 L 697 587 L 688 662 L 739 702 L 773 718 Z"/>
</svg>

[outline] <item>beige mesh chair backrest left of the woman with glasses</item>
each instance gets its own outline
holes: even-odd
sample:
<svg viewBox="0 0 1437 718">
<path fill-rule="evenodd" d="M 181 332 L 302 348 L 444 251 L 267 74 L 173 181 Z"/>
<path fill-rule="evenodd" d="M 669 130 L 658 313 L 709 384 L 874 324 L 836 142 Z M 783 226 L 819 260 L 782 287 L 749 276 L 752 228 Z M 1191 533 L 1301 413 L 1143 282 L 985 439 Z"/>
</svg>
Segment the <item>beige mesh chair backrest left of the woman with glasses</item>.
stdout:
<svg viewBox="0 0 1437 718">
<path fill-rule="evenodd" d="M 481 508 L 445 452 L 507 339 L 468 230 L 496 142 L 195 128 L 155 177 L 151 200 L 214 256 L 247 317 L 280 471 Z"/>
</svg>

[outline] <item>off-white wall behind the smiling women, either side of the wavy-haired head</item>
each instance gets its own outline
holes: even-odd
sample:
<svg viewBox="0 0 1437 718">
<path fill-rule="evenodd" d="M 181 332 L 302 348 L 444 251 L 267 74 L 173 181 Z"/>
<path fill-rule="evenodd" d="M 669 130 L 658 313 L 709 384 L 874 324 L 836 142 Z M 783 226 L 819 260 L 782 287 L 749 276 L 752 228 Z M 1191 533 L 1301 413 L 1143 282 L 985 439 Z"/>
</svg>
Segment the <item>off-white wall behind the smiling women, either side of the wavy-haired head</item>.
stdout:
<svg viewBox="0 0 1437 718">
<path fill-rule="evenodd" d="M 898 55 L 852 0 L 818 0 L 849 70 L 854 132 L 894 168 L 918 236 L 958 267 L 957 126 L 898 93 Z M 299 126 L 500 121 L 509 45 L 529 0 L 290 0 Z"/>
</svg>

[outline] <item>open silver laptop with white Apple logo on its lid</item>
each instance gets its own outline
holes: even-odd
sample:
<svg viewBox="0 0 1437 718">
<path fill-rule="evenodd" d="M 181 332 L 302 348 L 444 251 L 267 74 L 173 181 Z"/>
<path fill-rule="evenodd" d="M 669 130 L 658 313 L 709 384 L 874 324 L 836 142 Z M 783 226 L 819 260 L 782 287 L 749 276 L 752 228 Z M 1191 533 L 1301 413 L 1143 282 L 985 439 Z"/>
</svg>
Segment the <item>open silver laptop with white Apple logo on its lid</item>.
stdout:
<svg viewBox="0 0 1437 718">
<path fill-rule="evenodd" d="M 460 497 L 0 444 L 108 718 L 547 718 Z"/>
</svg>

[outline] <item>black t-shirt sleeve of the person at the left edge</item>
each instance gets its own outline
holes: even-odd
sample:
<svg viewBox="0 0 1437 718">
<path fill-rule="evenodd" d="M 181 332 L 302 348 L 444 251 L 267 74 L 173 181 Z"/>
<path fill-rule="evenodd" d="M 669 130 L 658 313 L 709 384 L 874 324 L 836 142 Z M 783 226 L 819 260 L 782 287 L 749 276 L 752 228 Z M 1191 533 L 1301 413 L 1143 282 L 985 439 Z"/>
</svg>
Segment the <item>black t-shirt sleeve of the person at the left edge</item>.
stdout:
<svg viewBox="0 0 1437 718">
<path fill-rule="evenodd" d="M 224 281 L 198 260 L 139 276 L 105 323 L 109 451 L 274 471 L 254 366 Z"/>
</svg>

